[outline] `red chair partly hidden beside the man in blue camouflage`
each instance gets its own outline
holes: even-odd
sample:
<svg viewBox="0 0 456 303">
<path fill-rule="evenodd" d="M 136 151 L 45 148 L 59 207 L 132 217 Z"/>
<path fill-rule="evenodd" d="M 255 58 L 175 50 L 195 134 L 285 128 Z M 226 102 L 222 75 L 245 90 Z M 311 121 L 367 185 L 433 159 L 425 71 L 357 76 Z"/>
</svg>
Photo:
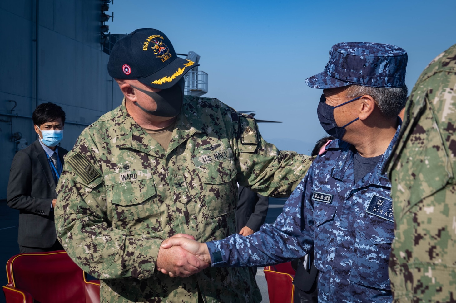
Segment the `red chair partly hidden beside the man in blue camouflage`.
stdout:
<svg viewBox="0 0 456 303">
<path fill-rule="evenodd" d="M 291 262 L 265 266 L 263 272 L 268 283 L 269 303 L 293 303 L 295 270 Z"/>
</svg>

